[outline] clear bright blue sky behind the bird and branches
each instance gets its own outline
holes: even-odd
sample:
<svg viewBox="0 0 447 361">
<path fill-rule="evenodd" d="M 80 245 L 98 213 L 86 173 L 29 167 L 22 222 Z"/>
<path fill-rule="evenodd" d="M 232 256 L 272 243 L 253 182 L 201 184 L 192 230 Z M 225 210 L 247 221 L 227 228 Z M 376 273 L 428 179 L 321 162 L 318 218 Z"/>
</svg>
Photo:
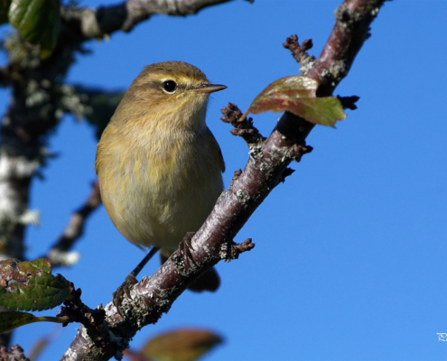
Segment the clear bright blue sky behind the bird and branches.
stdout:
<svg viewBox="0 0 447 361">
<path fill-rule="evenodd" d="M 85 1 L 96 6 L 101 2 Z M 104 3 L 106 4 L 106 3 Z M 298 73 L 282 47 L 298 34 L 320 54 L 340 1 L 235 1 L 200 14 L 154 16 L 133 32 L 88 42 L 69 81 L 127 88 L 144 65 L 184 60 L 228 89 L 210 102 L 208 124 L 222 148 L 228 186 L 247 162 L 247 146 L 219 117 L 228 101 L 247 109 L 275 79 Z M 358 95 L 359 109 L 337 129 L 317 126 L 314 147 L 237 235 L 256 248 L 218 264 L 213 294 L 185 292 L 132 347 L 168 329 L 204 327 L 225 343 L 204 360 L 443 360 L 447 342 L 447 23 L 445 1 L 386 3 L 372 36 L 335 94 Z M 0 94 L 7 104 L 7 93 Z M 254 116 L 268 135 L 278 118 Z M 85 122 L 66 117 L 51 137 L 60 157 L 33 182 L 32 208 L 42 225 L 27 233 L 36 258 L 65 227 L 95 180 L 96 139 Z M 116 231 L 104 208 L 76 245 L 82 258 L 57 269 L 83 291 L 90 307 L 107 304 L 143 253 Z M 144 274 L 154 272 L 152 262 Z M 52 315 L 54 310 L 42 312 Z M 41 359 L 59 359 L 76 334 L 63 329 Z M 37 336 L 60 326 L 23 327 L 14 343 L 30 350 Z"/>
</svg>

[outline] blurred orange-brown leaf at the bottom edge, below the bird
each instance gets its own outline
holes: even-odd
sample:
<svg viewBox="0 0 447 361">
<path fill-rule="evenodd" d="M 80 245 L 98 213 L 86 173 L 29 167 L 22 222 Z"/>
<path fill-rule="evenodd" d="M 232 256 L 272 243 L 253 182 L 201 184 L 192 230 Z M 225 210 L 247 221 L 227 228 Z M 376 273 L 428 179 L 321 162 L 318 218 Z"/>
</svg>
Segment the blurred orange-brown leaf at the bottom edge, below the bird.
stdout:
<svg viewBox="0 0 447 361">
<path fill-rule="evenodd" d="M 206 329 L 179 329 L 152 338 L 141 354 L 157 361 L 192 361 L 221 342 L 222 338 Z"/>
</svg>

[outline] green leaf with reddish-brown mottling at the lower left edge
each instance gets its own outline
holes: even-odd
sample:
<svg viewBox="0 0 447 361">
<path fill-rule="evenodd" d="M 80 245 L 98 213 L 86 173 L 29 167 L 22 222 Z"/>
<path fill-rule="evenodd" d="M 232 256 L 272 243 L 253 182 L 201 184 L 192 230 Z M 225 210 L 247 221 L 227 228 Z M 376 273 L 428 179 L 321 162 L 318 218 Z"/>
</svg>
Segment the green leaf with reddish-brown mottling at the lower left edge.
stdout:
<svg viewBox="0 0 447 361">
<path fill-rule="evenodd" d="M 70 282 L 51 274 L 51 262 L 6 260 L 0 263 L 0 305 L 11 310 L 48 310 L 70 294 Z"/>
</svg>

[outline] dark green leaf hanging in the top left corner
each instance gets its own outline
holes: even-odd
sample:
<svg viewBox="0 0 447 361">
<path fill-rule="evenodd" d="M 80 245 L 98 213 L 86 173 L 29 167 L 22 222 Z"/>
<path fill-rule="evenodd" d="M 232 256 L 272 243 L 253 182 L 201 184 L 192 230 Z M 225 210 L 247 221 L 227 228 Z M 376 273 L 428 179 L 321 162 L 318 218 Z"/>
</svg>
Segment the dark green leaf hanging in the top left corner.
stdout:
<svg viewBox="0 0 447 361">
<path fill-rule="evenodd" d="M 40 44 L 42 58 L 48 58 L 61 28 L 61 0 L 13 0 L 9 23 L 24 40 Z"/>
</svg>

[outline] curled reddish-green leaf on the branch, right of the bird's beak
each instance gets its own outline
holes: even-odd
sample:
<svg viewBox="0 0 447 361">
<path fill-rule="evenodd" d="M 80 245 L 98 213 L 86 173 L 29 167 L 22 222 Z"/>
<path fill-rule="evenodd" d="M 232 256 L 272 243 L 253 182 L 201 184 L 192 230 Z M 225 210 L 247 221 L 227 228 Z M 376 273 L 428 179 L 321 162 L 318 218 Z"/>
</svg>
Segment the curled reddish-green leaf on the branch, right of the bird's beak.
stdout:
<svg viewBox="0 0 447 361">
<path fill-rule="evenodd" d="M 248 107 L 252 114 L 288 111 L 308 122 L 334 126 L 346 114 L 337 97 L 316 97 L 318 82 L 293 76 L 278 79 L 265 88 Z"/>
</svg>

